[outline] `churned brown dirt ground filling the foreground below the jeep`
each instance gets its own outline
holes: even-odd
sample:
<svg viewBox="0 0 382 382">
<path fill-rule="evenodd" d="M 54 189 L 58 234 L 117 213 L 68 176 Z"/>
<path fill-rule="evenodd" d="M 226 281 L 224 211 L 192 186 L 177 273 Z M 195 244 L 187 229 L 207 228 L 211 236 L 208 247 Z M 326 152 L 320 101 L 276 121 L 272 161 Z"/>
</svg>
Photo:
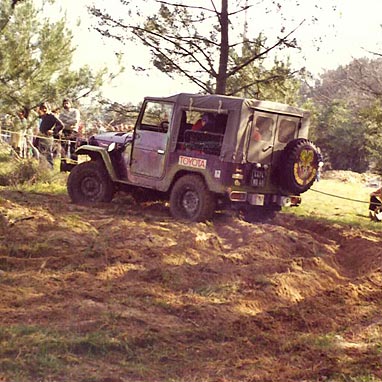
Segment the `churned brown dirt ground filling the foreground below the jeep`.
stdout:
<svg viewBox="0 0 382 382">
<path fill-rule="evenodd" d="M 0 381 L 17 357 L 21 381 L 382 380 L 376 233 L 283 214 L 186 224 L 127 196 L 88 208 L 2 191 L 0 213 L 3 331 L 105 346 L 72 341 L 42 371 L 35 349 L 0 353 Z"/>
</svg>

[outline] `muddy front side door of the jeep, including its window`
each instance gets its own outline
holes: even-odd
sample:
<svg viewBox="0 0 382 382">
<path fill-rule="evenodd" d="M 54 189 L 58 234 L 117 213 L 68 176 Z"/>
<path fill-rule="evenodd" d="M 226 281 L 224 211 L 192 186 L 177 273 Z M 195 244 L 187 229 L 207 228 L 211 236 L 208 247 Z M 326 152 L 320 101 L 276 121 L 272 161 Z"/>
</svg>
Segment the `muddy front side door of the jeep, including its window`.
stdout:
<svg viewBox="0 0 382 382">
<path fill-rule="evenodd" d="M 173 115 L 173 104 L 146 101 L 134 132 L 131 171 L 136 175 L 160 178 L 165 161 Z"/>
</svg>

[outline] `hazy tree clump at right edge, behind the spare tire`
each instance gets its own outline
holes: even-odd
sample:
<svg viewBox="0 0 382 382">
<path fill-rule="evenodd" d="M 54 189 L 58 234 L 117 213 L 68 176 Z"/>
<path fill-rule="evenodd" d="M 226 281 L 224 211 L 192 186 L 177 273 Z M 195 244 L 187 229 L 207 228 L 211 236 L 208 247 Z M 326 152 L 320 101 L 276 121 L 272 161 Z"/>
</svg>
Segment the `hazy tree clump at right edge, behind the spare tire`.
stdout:
<svg viewBox="0 0 382 382">
<path fill-rule="evenodd" d="M 309 94 L 317 143 L 334 169 L 382 173 L 382 59 L 354 59 L 327 71 Z"/>
</svg>

